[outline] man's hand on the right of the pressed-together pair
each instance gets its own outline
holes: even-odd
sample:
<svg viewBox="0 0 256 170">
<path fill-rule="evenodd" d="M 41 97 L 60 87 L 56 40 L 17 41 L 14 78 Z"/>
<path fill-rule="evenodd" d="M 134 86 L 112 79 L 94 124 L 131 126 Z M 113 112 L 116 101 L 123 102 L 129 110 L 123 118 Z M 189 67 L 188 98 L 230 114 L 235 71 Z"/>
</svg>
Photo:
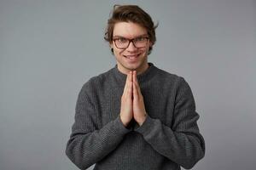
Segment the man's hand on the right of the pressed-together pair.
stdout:
<svg viewBox="0 0 256 170">
<path fill-rule="evenodd" d="M 135 121 L 142 126 L 143 122 L 146 120 L 146 110 L 143 100 L 143 94 L 137 82 L 137 72 L 133 71 L 132 75 L 132 86 L 133 86 L 133 117 Z"/>
</svg>

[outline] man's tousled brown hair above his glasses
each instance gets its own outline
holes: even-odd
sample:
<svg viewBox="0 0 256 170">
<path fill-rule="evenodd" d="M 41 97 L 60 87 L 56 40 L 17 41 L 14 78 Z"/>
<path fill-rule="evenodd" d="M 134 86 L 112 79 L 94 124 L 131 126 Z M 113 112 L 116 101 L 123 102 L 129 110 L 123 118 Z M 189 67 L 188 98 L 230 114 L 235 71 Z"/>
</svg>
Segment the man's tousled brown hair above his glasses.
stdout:
<svg viewBox="0 0 256 170">
<path fill-rule="evenodd" d="M 114 5 L 113 13 L 110 19 L 108 19 L 108 26 L 106 28 L 104 39 L 112 43 L 113 42 L 113 27 L 118 22 L 133 22 L 137 23 L 140 26 L 143 26 L 148 31 L 149 41 L 156 41 L 155 38 L 155 28 L 154 22 L 151 19 L 150 15 L 143 11 L 142 8 L 139 8 L 137 5 Z M 113 49 L 111 49 L 113 53 Z M 152 51 L 152 47 L 149 48 L 148 54 Z"/>
</svg>

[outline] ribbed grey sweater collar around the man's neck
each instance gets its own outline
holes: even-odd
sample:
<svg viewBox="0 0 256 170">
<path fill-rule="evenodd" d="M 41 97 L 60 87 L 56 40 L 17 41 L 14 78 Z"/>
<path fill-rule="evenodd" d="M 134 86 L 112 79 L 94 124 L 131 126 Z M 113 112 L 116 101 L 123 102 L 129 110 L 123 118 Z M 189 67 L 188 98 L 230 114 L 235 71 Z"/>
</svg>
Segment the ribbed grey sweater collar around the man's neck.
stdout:
<svg viewBox="0 0 256 170">
<path fill-rule="evenodd" d="M 156 70 L 156 67 L 154 66 L 154 64 L 148 63 L 148 69 L 143 73 L 137 75 L 138 82 L 148 81 L 150 78 L 154 76 L 155 70 Z M 119 79 L 119 81 L 125 82 L 127 75 L 119 71 L 117 65 L 115 65 L 115 67 L 113 68 L 113 74 L 115 77 Z"/>
</svg>

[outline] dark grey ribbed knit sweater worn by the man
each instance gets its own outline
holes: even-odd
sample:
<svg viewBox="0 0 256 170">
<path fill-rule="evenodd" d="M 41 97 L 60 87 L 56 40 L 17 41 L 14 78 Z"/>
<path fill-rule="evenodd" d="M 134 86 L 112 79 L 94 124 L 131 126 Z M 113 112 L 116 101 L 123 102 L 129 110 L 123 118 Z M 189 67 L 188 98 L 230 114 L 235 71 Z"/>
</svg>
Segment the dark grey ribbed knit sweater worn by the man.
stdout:
<svg viewBox="0 0 256 170">
<path fill-rule="evenodd" d="M 177 170 L 205 154 L 188 83 L 152 63 L 137 76 L 147 117 L 142 126 L 120 120 L 126 75 L 117 65 L 92 77 L 79 92 L 66 154 L 80 169 Z"/>
</svg>

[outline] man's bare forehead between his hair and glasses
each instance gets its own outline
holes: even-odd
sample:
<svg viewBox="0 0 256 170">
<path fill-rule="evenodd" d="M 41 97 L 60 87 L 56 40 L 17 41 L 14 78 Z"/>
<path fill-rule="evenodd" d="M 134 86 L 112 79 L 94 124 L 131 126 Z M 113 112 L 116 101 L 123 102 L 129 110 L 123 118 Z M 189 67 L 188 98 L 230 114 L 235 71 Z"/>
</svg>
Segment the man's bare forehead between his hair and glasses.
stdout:
<svg viewBox="0 0 256 170">
<path fill-rule="evenodd" d="M 118 22 L 113 26 L 113 37 L 137 37 L 147 34 L 147 30 L 133 22 Z"/>
</svg>

